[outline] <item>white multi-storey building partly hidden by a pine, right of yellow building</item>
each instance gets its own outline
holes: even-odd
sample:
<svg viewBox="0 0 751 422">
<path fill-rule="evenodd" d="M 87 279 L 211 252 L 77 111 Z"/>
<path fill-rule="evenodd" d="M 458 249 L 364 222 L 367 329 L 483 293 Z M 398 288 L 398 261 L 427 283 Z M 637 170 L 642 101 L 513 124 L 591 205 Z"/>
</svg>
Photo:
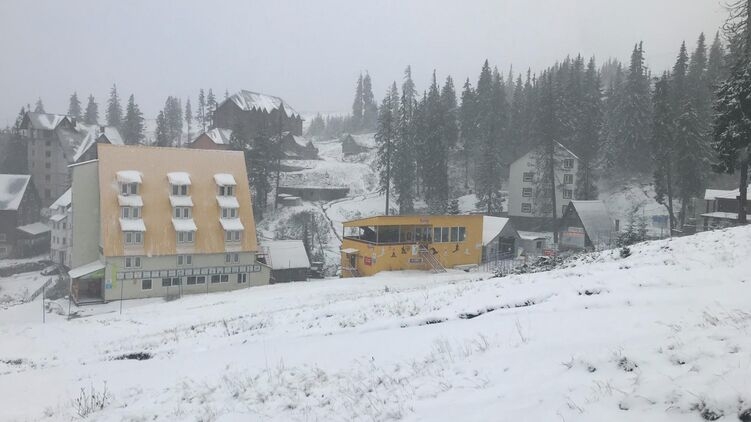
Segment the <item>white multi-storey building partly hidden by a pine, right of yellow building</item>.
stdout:
<svg viewBox="0 0 751 422">
<path fill-rule="evenodd" d="M 539 220 L 553 217 L 550 195 L 542 186 L 541 151 L 533 149 L 511 164 L 508 184 L 508 215 L 516 220 Z M 555 205 L 560 218 L 569 202 L 576 198 L 579 157 L 560 143 L 555 144 Z"/>
</svg>

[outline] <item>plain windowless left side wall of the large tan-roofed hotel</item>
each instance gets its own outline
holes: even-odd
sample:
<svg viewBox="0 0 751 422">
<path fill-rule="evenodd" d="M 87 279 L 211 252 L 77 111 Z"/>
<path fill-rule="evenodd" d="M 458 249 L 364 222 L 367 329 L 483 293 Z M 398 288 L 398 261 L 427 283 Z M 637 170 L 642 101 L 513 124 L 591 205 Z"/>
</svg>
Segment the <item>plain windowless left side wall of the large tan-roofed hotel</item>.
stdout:
<svg viewBox="0 0 751 422">
<path fill-rule="evenodd" d="M 99 259 L 99 163 L 71 167 L 73 173 L 70 265 L 75 268 Z"/>
</svg>

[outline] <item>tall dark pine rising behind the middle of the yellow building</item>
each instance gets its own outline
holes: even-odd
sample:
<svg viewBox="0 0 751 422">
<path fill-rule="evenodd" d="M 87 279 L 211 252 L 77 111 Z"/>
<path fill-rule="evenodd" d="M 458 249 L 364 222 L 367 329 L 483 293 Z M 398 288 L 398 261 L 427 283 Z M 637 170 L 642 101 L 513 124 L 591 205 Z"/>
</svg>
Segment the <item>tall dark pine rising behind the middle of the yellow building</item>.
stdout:
<svg viewBox="0 0 751 422">
<path fill-rule="evenodd" d="M 430 214 L 445 214 L 448 206 L 448 145 L 443 133 L 447 119 L 441 105 L 440 87 L 433 71 L 433 82 L 428 89 L 425 103 L 425 144 L 420 149 L 423 157 L 423 185 L 425 202 Z"/>
</svg>

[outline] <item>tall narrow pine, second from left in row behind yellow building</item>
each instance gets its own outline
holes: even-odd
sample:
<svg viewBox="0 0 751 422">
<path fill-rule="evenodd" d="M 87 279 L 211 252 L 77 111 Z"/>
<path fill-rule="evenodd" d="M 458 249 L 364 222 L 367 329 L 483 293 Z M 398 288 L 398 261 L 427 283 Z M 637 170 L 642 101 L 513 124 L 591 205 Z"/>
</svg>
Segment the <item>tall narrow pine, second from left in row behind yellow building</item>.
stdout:
<svg viewBox="0 0 751 422">
<path fill-rule="evenodd" d="M 412 81 L 412 69 L 404 70 L 402 96 L 399 101 L 397 133 L 392 153 L 394 196 L 399 205 L 399 214 L 414 212 L 416 173 L 416 113 L 417 92 Z"/>
</svg>

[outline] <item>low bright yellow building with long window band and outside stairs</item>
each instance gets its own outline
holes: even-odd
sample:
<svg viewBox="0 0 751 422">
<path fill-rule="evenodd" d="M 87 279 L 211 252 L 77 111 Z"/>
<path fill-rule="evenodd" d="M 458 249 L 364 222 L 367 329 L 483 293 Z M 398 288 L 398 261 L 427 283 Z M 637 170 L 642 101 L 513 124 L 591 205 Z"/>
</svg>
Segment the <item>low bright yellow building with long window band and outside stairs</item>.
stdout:
<svg viewBox="0 0 751 422">
<path fill-rule="evenodd" d="M 520 240 L 508 218 L 482 215 L 377 216 L 343 226 L 342 277 L 472 267 L 515 258 Z"/>
</svg>

